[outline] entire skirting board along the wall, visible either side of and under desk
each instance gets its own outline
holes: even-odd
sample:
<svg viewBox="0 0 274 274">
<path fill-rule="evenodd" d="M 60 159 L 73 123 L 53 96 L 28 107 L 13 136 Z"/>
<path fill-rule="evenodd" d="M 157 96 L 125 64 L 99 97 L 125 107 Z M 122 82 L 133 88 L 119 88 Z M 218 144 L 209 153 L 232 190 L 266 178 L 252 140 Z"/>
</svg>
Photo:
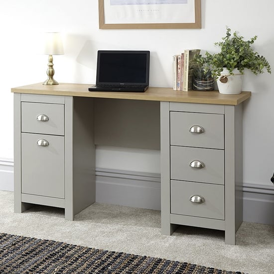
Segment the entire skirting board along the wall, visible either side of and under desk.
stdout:
<svg viewBox="0 0 274 274">
<path fill-rule="evenodd" d="M 0 159 L 0 190 L 13 191 L 13 161 Z M 244 183 L 244 221 L 274 225 L 274 185 Z M 160 210 L 160 174 L 98 168 L 96 202 Z"/>
</svg>

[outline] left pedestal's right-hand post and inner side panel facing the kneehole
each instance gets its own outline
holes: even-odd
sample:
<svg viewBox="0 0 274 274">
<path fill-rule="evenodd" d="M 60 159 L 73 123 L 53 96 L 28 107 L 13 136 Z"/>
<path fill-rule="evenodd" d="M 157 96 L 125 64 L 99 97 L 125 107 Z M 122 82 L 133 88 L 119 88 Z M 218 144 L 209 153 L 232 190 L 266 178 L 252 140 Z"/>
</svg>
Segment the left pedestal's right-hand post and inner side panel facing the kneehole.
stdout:
<svg viewBox="0 0 274 274">
<path fill-rule="evenodd" d="M 65 97 L 65 219 L 95 202 L 94 99 Z"/>
</svg>

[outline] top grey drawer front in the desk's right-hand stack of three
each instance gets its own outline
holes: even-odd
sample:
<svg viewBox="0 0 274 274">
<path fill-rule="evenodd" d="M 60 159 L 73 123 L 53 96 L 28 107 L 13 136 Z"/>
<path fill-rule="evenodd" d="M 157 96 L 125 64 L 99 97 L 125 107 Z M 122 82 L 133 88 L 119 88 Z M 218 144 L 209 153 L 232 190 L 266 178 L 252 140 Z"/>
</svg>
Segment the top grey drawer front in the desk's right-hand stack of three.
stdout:
<svg viewBox="0 0 274 274">
<path fill-rule="evenodd" d="M 192 126 L 200 126 L 204 132 L 192 133 Z M 170 144 L 224 149 L 224 116 L 170 112 Z"/>
</svg>

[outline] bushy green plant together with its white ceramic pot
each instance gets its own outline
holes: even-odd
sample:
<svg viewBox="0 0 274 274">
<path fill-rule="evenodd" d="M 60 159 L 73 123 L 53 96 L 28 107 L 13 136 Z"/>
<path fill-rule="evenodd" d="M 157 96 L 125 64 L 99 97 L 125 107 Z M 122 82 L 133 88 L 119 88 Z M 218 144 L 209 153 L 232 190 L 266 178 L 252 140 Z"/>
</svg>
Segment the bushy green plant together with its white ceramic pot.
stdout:
<svg viewBox="0 0 274 274">
<path fill-rule="evenodd" d="M 255 75 L 265 70 L 271 73 L 271 66 L 266 58 L 252 48 L 256 39 L 257 35 L 246 41 L 236 31 L 231 34 L 231 29 L 227 28 L 226 36 L 215 43 L 221 48 L 220 52 L 205 52 L 205 56 L 195 56 L 195 61 L 203 65 L 205 71 L 211 69 L 220 93 L 241 93 L 245 69 L 251 70 Z"/>
</svg>

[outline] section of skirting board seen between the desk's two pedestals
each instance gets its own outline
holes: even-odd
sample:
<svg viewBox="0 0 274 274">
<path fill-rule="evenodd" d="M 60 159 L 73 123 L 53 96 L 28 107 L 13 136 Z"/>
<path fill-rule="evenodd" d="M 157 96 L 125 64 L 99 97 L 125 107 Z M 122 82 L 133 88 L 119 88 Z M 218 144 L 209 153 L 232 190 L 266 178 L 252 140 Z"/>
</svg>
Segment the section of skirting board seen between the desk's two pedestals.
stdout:
<svg viewBox="0 0 274 274">
<path fill-rule="evenodd" d="M 96 170 L 96 202 L 160 210 L 160 174 Z"/>
</svg>

